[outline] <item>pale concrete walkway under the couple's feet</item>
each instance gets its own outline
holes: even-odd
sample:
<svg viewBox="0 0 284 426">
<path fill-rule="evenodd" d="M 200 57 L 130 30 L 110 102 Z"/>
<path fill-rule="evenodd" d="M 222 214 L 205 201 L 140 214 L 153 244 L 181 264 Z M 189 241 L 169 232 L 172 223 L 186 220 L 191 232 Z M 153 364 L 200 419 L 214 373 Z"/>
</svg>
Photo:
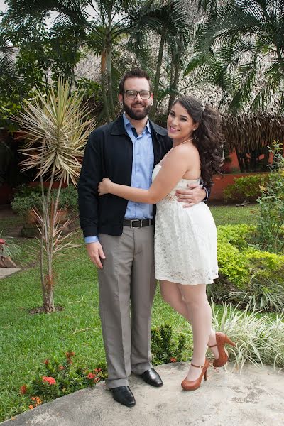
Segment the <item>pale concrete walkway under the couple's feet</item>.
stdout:
<svg viewBox="0 0 284 426">
<path fill-rule="evenodd" d="M 194 392 L 182 391 L 187 364 L 156 367 L 162 388 L 131 376 L 136 406 L 124 407 L 104 383 L 41 405 L 5 426 L 282 426 L 284 374 L 271 367 L 247 365 L 241 374 L 231 366 L 209 369 L 207 382 Z"/>
</svg>

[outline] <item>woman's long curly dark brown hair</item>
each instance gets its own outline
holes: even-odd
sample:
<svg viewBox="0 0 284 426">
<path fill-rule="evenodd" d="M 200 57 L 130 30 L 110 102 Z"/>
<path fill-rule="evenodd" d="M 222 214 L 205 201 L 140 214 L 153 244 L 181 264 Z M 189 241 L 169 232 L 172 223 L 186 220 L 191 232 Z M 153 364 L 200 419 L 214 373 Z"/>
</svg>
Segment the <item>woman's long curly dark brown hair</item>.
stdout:
<svg viewBox="0 0 284 426">
<path fill-rule="evenodd" d="M 202 102 L 193 96 L 181 96 L 175 99 L 187 110 L 199 126 L 193 132 L 193 143 L 200 153 L 201 177 L 206 187 L 213 185 L 212 176 L 219 173 L 222 167 L 221 151 L 224 137 L 221 129 L 221 117 L 218 109 L 209 104 L 203 107 Z"/>
</svg>

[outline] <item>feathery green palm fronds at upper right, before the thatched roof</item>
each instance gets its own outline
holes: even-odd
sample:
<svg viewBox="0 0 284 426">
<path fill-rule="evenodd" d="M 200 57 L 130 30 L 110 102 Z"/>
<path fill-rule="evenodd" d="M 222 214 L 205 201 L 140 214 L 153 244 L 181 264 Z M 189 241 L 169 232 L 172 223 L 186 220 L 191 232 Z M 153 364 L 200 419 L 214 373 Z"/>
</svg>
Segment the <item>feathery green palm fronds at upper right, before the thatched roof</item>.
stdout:
<svg viewBox="0 0 284 426">
<path fill-rule="evenodd" d="M 200 0 L 207 13 L 195 30 L 195 57 L 185 75 L 223 90 L 229 109 L 264 108 L 278 95 L 284 108 L 282 0 Z"/>
</svg>

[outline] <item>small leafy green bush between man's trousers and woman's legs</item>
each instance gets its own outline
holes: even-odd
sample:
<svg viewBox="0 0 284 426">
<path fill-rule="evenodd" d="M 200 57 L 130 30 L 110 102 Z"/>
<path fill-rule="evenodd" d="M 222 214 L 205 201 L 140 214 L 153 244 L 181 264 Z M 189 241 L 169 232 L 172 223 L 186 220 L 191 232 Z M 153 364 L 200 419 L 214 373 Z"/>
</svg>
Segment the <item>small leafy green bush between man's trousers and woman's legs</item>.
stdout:
<svg viewBox="0 0 284 426">
<path fill-rule="evenodd" d="M 173 328 L 169 324 L 152 329 L 151 354 L 153 365 L 168 364 L 182 360 L 185 349 L 185 334 L 180 334 L 177 340 L 173 339 Z"/>
</svg>

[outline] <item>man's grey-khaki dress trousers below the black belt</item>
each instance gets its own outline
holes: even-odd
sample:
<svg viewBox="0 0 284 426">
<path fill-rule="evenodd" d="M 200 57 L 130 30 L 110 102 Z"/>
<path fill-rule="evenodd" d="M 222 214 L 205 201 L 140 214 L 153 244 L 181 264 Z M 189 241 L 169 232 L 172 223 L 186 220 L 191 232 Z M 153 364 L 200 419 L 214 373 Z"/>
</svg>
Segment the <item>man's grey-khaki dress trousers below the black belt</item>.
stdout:
<svg viewBox="0 0 284 426">
<path fill-rule="evenodd" d="M 151 307 L 155 295 L 153 226 L 121 236 L 99 234 L 106 256 L 99 269 L 99 314 L 107 386 L 128 386 L 131 371 L 151 368 Z"/>
</svg>

